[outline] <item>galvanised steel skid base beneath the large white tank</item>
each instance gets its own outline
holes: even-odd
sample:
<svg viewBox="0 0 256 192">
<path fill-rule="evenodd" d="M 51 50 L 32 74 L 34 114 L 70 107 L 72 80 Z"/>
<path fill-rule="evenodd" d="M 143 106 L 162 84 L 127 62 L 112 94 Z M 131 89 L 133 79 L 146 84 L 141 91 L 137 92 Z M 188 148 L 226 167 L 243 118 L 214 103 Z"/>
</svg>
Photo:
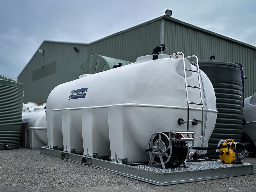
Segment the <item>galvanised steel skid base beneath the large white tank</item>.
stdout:
<svg viewBox="0 0 256 192">
<path fill-rule="evenodd" d="M 190 168 L 159 169 L 145 164 L 125 165 L 110 161 L 40 147 L 40 153 L 66 161 L 105 170 L 158 186 L 190 183 L 253 174 L 253 164 L 222 164 L 221 161 L 189 162 Z"/>
</svg>

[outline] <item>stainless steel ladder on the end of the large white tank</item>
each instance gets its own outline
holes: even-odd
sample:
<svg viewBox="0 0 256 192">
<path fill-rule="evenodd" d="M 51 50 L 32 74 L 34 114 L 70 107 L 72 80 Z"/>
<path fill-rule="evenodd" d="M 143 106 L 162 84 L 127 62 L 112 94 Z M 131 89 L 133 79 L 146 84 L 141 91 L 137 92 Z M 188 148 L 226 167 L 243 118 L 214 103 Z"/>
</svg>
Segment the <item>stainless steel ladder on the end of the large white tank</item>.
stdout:
<svg viewBox="0 0 256 192">
<path fill-rule="evenodd" d="M 199 65 L 198 65 L 198 58 L 197 56 L 193 55 L 193 56 L 189 56 L 189 57 L 186 57 L 186 59 L 189 59 L 189 58 L 193 58 L 195 57 L 196 58 L 196 64 L 197 64 L 197 70 L 192 70 L 192 69 L 186 69 L 186 66 L 185 66 L 185 56 L 182 52 L 177 52 L 177 53 L 174 53 L 170 56 L 170 58 L 172 58 L 172 56 L 175 56 L 177 59 L 179 58 L 179 55 L 182 55 L 182 59 L 183 59 L 183 68 L 184 68 L 184 79 L 185 79 L 185 87 L 186 87 L 186 96 L 187 96 L 187 105 L 188 105 L 188 111 L 187 111 L 187 121 L 181 121 L 181 123 L 187 123 L 187 131 L 189 131 L 189 122 L 194 122 L 196 124 L 201 124 L 201 136 L 200 137 L 195 137 L 195 139 L 201 139 L 203 137 L 203 134 L 204 134 L 204 104 L 203 104 L 203 97 L 202 97 L 202 89 L 201 89 L 201 81 L 200 81 L 200 74 L 199 74 Z M 197 73 L 197 76 L 198 76 L 198 82 L 199 82 L 199 86 L 191 86 L 191 85 L 188 85 L 187 84 L 187 76 L 186 76 L 186 71 L 191 71 L 191 72 L 194 72 L 194 73 Z M 188 87 L 189 88 L 193 88 L 193 89 L 199 89 L 200 90 L 200 99 L 201 99 L 201 103 L 195 103 L 195 102 L 189 102 L 189 97 L 188 97 Z M 193 104 L 193 105 L 200 105 L 201 106 L 201 109 L 202 109 L 202 120 L 189 120 L 189 107 L 190 107 L 190 104 Z M 188 135 L 189 137 L 189 135 Z"/>
</svg>

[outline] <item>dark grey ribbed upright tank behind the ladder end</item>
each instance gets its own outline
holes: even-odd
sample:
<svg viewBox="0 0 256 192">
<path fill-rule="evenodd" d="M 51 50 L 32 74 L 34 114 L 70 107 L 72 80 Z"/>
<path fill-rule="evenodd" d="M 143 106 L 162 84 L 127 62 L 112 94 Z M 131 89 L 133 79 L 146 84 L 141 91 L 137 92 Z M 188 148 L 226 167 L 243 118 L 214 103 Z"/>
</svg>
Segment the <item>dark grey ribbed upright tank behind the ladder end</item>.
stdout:
<svg viewBox="0 0 256 192">
<path fill-rule="evenodd" d="M 240 66 L 209 60 L 199 61 L 199 67 L 210 79 L 217 102 L 217 121 L 208 146 L 217 146 L 220 139 L 242 142 L 243 93 Z"/>
</svg>

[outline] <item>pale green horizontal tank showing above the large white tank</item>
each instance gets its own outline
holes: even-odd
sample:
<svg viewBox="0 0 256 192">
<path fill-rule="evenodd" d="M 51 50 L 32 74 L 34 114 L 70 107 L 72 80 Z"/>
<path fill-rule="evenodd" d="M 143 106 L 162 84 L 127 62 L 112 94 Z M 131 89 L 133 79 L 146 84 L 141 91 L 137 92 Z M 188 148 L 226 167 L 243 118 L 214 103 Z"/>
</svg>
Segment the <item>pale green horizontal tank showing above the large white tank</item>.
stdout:
<svg viewBox="0 0 256 192">
<path fill-rule="evenodd" d="M 122 63 L 122 66 L 132 62 L 100 55 L 92 55 L 84 60 L 77 72 L 77 78 L 84 74 L 94 74 L 113 69 L 114 65 Z"/>
</svg>

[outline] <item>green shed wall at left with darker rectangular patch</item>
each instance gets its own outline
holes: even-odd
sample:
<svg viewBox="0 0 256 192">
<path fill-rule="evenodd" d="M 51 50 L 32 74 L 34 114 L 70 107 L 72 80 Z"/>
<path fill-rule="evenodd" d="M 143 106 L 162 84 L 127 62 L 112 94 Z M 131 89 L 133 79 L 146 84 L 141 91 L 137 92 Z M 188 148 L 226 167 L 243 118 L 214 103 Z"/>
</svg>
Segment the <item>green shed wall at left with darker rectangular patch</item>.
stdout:
<svg viewBox="0 0 256 192">
<path fill-rule="evenodd" d="M 74 51 L 74 47 L 79 52 Z M 18 77 L 24 84 L 24 103 L 44 103 L 56 86 L 77 79 L 77 70 L 88 57 L 87 46 L 78 44 L 63 44 L 44 42 L 41 47 L 44 52 L 44 68 L 41 67 L 41 57 L 36 52 L 26 68 Z M 41 73 L 41 76 L 38 75 Z"/>
</svg>

